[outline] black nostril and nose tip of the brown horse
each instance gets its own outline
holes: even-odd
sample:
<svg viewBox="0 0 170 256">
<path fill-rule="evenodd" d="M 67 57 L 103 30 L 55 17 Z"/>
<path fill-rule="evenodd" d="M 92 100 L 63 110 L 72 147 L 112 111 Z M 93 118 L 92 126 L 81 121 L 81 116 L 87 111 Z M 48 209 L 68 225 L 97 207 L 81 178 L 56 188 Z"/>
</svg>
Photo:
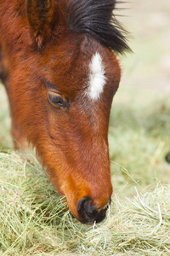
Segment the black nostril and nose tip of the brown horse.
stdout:
<svg viewBox="0 0 170 256">
<path fill-rule="evenodd" d="M 93 223 L 94 221 L 99 223 L 105 218 L 107 208 L 108 207 L 105 207 L 105 209 L 98 211 L 89 196 L 83 197 L 77 203 L 77 212 L 83 218 L 83 220 L 81 220 L 83 224 Z"/>
</svg>

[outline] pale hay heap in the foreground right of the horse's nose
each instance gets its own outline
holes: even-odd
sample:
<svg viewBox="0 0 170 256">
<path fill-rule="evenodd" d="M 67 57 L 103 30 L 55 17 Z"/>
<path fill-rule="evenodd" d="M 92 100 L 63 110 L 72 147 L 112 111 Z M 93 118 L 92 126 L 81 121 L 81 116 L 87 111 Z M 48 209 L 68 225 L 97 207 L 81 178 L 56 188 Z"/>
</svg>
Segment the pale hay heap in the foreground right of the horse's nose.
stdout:
<svg viewBox="0 0 170 256">
<path fill-rule="evenodd" d="M 123 202 L 116 198 L 116 213 L 88 232 L 91 247 L 100 247 L 103 255 L 170 253 L 169 205 L 170 186 L 159 185 L 144 195 L 137 191 L 137 196 Z"/>
</svg>

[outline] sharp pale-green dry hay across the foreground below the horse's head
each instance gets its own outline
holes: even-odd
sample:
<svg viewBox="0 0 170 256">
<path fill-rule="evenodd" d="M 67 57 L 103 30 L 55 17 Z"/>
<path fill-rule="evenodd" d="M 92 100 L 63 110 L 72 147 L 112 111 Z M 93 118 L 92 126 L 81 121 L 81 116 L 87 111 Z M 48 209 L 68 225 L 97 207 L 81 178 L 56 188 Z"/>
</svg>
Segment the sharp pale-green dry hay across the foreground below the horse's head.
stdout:
<svg viewBox="0 0 170 256">
<path fill-rule="evenodd" d="M 65 210 L 33 154 L 0 153 L 1 255 L 170 253 L 170 185 L 113 203 L 101 224 Z"/>
</svg>

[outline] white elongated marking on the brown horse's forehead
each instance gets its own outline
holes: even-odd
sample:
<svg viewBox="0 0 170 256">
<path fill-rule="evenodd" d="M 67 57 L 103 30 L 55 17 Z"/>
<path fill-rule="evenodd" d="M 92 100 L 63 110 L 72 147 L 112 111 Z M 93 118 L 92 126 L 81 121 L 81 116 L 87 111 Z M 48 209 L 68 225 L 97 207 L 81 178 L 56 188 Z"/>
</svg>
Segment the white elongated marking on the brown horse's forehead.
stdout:
<svg viewBox="0 0 170 256">
<path fill-rule="evenodd" d="M 93 101 L 97 101 L 99 100 L 99 96 L 103 92 L 106 83 L 105 67 L 101 55 L 98 52 L 93 55 L 92 61 L 89 64 L 89 69 L 88 96 L 90 96 Z"/>
</svg>

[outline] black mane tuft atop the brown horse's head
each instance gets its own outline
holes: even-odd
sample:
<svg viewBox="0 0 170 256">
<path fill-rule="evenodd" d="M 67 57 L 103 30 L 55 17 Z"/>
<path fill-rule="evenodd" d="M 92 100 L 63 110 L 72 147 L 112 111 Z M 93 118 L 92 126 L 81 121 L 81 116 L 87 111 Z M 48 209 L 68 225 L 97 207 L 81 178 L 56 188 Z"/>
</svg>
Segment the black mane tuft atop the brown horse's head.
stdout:
<svg viewBox="0 0 170 256">
<path fill-rule="evenodd" d="M 115 4 L 116 0 L 70 0 L 67 13 L 70 28 L 88 33 L 117 53 L 130 50 L 124 29 L 112 15 Z"/>
</svg>

